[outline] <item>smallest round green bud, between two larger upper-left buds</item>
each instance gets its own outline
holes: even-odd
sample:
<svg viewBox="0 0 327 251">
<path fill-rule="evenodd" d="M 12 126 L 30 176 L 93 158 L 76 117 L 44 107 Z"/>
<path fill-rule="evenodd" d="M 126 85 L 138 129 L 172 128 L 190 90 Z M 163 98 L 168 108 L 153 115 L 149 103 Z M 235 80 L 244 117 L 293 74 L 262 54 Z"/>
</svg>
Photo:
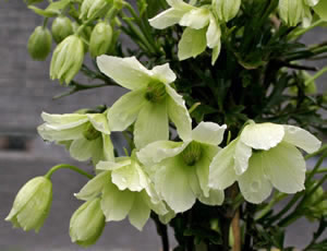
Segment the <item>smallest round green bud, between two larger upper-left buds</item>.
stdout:
<svg viewBox="0 0 327 251">
<path fill-rule="evenodd" d="M 52 37 L 57 44 L 74 33 L 72 22 L 66 16 L 58 16 L 51 27 Z"/>
</svg>

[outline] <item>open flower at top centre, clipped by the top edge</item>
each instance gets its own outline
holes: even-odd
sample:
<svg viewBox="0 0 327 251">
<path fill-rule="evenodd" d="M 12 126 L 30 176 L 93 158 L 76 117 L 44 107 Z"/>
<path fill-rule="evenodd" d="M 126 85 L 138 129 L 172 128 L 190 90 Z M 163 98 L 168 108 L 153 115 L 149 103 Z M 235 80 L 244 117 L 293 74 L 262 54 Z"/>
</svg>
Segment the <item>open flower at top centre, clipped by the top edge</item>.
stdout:
<svg viewBox="0 0 327 251">
<path fill-rule="evenodd" d="M 174 24 L 186 26 L 179 43 L 179 59 L 195 58 L 209 47 L 213 49 L 211 63 L 215 64 L 220 53 L 221 31 L 211 5 L 197 8 L 183 0 L 167 0 L 167 2 L 171 8 L 150 19 L 150 25 L 159 29 Z"/>
</svg>

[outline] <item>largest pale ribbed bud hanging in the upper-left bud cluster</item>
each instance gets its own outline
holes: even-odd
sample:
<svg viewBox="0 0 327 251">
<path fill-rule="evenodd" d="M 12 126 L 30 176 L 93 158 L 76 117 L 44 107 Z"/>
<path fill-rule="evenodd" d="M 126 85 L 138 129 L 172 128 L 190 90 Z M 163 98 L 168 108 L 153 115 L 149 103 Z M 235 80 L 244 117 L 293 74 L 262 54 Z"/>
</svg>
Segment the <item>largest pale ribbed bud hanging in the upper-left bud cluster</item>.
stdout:
<svg viewBox="0 0 327 251">
<path fill-rule="evenodd" d="M 60 83 L 69 84 L 80 71 L 83 61 L 83 41 L 78 36 L 70 35 L 53 51 L 50 77 L 52 80 L 58 79 Z"/>
</svg>

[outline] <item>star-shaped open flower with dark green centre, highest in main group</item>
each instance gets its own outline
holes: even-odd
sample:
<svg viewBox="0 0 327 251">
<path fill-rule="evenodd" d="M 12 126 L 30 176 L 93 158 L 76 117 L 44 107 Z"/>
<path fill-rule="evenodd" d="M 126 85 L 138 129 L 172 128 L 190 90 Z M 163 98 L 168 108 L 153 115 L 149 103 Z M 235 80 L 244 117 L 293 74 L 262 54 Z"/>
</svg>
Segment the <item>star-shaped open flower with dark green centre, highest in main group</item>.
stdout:
<svg viewBox="0 0 327 251">
<path fill-rule="evenodd" d="M 108 112 L 109 128 L 124 131 L 134 121 L 137 148 L 169 138 L 169 119 L 181 139 L 191 134 L 191 118 L 185 101 L 171 86 L 175 74 L 169 64 L 144 68 L 136 58 L 100 56 L 97 63 L 102 73 L 132 92 L 123 95 Z"/>
</svg>

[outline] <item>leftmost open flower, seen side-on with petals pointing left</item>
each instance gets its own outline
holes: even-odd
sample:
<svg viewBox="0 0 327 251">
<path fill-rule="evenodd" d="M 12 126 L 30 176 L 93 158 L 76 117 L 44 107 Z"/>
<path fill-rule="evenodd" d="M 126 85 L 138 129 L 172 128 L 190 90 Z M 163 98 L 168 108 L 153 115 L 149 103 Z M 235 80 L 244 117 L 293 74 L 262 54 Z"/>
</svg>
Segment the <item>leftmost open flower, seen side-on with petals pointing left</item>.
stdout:
<svg viewBox="0 0 327 251">
<path fill-rule="evenodd" d="M 94 165 L 99 160 L 112 160 L 113 146 L 105 113 L 41 113 L 45 123 L 38 133 L 46 141 L 64 144 L 71 156 L 80 162 L 92 158 Z"/>
</svg>

